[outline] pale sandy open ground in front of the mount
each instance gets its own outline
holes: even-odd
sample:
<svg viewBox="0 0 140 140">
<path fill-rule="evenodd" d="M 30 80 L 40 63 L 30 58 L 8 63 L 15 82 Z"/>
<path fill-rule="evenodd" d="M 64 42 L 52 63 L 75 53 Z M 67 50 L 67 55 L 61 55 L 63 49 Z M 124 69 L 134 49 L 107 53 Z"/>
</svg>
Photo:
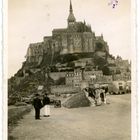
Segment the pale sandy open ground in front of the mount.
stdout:
<svg viewBox="0 0 140 140">
<path fill-rule="evenodd" d="M 108 96 L 110 104 L 75 109 L 53 108 L 49 118 L 34 110 L 12 131 L 18 140 L 130 140 L 130 94 Z"/>
</svg>

